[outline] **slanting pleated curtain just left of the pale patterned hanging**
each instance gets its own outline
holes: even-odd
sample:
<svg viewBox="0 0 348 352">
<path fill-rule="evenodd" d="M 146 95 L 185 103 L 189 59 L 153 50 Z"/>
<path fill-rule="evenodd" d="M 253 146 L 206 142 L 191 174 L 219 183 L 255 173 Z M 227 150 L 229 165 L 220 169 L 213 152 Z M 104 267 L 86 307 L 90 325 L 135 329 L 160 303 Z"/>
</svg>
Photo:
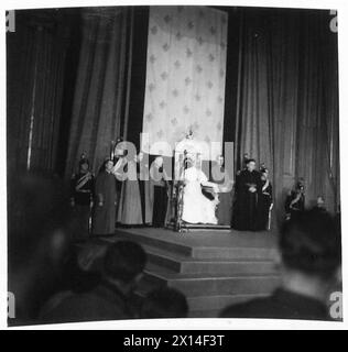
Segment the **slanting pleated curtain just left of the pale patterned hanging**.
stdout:
<svg viewBox="0 0 348 352">
<path fill-rule="evenodd" d="M 66 175 L 86 153 L 95 172 L 120 136 L 128 99 L 131 8 L 91 8 L 83 13 L 83 43 L 68 142 Z"/>
</svg>

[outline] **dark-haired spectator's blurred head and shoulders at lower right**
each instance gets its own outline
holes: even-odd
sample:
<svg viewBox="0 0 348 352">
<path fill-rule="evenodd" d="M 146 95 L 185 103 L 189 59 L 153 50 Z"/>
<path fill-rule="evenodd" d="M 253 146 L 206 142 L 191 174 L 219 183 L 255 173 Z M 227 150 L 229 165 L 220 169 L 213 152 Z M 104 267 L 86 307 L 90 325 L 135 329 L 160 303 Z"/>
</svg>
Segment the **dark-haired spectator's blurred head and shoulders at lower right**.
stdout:
<svg viewBox="0 0 348 352">
<path fill-rule="evenodd" d="M 282 256 L 280 287 L 268 297 L 228 306 L 220 317 L 306 320 L 339 317 L 339 302 L 333 307 L 328 299 L 340 290 L 337 289 L 340 231 L 335 219 L 315 209 L 300 212 L 284 223 L 279 245 Z"/>
</svg>

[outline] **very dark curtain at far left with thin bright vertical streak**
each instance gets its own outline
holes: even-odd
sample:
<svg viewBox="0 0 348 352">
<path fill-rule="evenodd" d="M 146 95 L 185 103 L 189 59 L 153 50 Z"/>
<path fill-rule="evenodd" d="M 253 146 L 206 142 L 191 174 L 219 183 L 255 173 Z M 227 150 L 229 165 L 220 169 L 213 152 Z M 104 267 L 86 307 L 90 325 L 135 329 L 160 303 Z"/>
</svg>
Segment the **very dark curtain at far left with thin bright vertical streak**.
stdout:
<svg viewBox="0 0 348 352">
<path fill-rule="evenodd" d="M 68 25 L 56 10 L 15 11 L 7 33 L 8 174 L 54 170 Z"/>
</svg>

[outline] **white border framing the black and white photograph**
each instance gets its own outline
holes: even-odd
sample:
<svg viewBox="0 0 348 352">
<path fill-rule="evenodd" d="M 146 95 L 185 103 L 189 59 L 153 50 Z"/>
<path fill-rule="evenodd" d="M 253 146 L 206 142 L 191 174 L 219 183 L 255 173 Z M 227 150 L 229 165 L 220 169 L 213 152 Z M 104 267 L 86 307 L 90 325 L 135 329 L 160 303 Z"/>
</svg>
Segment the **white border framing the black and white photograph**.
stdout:
<svg viewBox="0 0 348 352">
<path fill-rule="evenodd" d="M 274 7 L 274 8 L 308 8 L 308 9 L 335 9 L 338 11 L 338 50 L 339 50 L 339 130 L 340 130 L 340 155 L 348 150 L 348 139 L 345 136 L 348 132 L 348 118 L 347 117 L 347 103 L 348 103 L 348 57 L 347 57 L 347 23 L 348 23 L 348 2 L 346 0 L 244 0 L 244 1 L 195 1 L 191 0 L 189 3 L 183 0 L 176 1 L 110 1 L 104 0 L 102 2 L 96 2 L 91 0 L 75 0 L 73 7 L 100 7 L 100 6 L 159 6 L 159 4 L 204 4 L 204 6 L 239 6 L 239 7 Z M 72 7 L 70 0 L 53 0 L 50 3 L 45 0 L 12 0 L 1 1 L 0 8 L 2 13 L 2 20 L 4 21 L 4 11 L 12 9 L 34 9 L 34 8 L 69 8 Z M 0 119 L 0 200 L 1 200 L 1 212 L 0 212 L 0 328 L 7 329 L 7 185 L 6 185 L 6 31 L 2 25 L 1 37 L 0 37 L 0 55 L 1 55 L 1 70 L 0 70 L 0 101 L 1 101 L 1 119 Z M 340 163 L 341 175 L 348 174 L 347 163 L 341 158 Z M 348 184 L 344 183 L 341 177 L 341 211 L 344 215 L 348 211 L 347 195 Z M 345 233 L 348 229 L 348 221 L 345 216 L 342 217 L 342 273 L 344 273 L 344 293 L 346 292 L 346 279 L 347 273 L 347 239 Z M 344 307 L 347 307 L 347 293 L 344 294 Z M 344 320 L 347 315 L 344 315 Z M 301 320 L 272 320 L 272 319 L 173 319 L 173 320 L 122 320 L 122 321 L 101 321 L 101 322 L 84 322 L 84 323 L 64 323 L 64 324 L 45 324 L 45 326 L 30 326 L 11 329 L 25 329 L 25 330 L 42 330 L 42 329 L 96 329 L 96 330 L 133 330 L 128 336 L 134 333 L 137 330 L 153 329 L 153 330 L 219 330 L 219 329 L 301 329 L 301 330 L 341 330 L 347 329 L 348 322 L 322 322 L 322 321 L 301 321 Z M 197 333 L 199 333 L 197 331 Z M 202 331 L 200 333 L 204 333 Z"/>
</svg>

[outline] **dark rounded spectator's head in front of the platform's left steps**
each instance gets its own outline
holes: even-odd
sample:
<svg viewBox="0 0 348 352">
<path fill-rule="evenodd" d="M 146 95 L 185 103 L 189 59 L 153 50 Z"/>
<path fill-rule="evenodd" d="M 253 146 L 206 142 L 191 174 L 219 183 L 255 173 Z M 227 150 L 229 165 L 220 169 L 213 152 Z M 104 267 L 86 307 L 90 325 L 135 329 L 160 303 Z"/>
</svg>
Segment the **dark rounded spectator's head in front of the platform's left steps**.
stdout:
<svg viewBox="0 0 348 352">
<path fill-rule="evenodd" d="M 105 279 L 123 294 L 130 293 L 141 279 L 146 264 L 146 253 L 132 241 L 111 244 L 104 258 Z"/>
</svg>

